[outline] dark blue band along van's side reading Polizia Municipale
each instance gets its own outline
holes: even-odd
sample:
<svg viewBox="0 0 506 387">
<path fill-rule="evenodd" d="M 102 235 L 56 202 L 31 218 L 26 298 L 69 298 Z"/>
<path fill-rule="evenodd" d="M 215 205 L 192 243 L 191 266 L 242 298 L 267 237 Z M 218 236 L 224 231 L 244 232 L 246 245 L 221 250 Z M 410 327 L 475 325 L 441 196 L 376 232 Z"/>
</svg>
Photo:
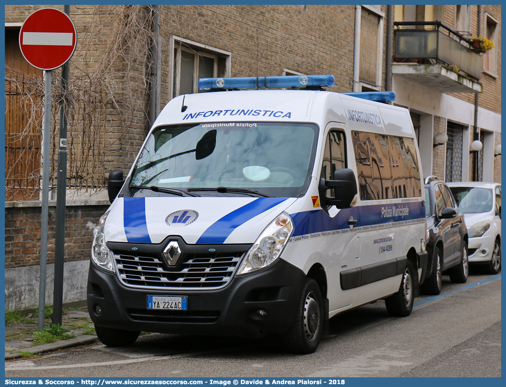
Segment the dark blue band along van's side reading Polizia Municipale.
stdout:
<svg viewBox="0 0 506 387">
<path fill-rule="evenodd" d="M 333 218 L 323 210 L 298 212 L 291 215 L 294 223 L 292 237 L 350 229 L 348 225 L 350 216 L 358 220 L 353 228 L 400 221 L 419 221 L 425 219 L 425 207 L 421 206 L 421 202 L 365 205 L 342 209 Z"/>
</svg>

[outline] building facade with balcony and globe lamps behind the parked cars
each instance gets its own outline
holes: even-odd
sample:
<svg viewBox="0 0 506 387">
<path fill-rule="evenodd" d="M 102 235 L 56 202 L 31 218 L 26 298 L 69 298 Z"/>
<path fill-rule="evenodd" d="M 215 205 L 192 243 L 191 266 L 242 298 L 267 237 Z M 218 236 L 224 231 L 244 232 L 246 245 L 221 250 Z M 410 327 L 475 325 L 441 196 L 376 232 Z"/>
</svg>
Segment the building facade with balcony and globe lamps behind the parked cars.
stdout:
<svg viewBox="0 0 506 387">
<path fill-rule="evenodd" d="M 395 6 L 394 28 L 392 90 L 411 112 L 425 175 L 500 182 L 501 7 Z M 494 47 L 474 49 L 478 36 Z"/>
</svg>

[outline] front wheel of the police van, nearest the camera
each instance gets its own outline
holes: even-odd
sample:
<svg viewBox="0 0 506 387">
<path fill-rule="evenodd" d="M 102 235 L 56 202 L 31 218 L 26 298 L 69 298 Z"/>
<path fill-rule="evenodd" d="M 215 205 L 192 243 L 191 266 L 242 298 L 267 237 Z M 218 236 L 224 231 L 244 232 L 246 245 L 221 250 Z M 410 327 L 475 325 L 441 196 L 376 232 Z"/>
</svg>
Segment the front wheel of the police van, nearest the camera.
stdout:
<svg viewBox="0 0 506 387">
<path fill-rule="evenodd" d="M 320 287 L 312 278 L 304 282 L 291 327 L 283 341 L 289 352 L 312 354 L 316 351 L 323 330 L 323 300 Z"/>
</svg>

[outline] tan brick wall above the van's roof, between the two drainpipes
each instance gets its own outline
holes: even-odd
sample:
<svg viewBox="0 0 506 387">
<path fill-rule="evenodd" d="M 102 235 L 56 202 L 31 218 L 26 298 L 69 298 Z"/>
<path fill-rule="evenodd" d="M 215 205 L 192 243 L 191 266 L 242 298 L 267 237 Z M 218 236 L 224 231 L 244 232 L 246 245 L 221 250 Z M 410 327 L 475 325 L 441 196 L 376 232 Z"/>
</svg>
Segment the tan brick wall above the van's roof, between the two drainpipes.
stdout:
<svg viewBox="0 0 506 387">
<path fill-rule="evenodd" d="M 168 95 L 168 42 L 176 35 L 231 53 L 231 76 L 281 75 L 283 68 L 333 74 L 350 92 L 355 7 L 334 5 L 161 6 L 161 106 Z"/>
</svg>

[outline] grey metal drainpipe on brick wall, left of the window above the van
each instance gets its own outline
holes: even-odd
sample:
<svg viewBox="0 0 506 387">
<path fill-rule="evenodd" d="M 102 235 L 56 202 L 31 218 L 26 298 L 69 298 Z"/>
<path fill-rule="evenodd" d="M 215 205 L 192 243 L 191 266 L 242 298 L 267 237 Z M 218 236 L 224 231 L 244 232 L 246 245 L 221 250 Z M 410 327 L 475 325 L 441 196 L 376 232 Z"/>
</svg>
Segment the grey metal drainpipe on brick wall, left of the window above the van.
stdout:
<svg viewBox="0 0 506 387">
<path fill-rule="evenodd" d="M 151 26 L 151 32 L 153 33 L 153 41 L 149 48 L 151 54 L 151 66 L 149 68 L 150 82 L 149 82 L 149 127 L 154 124 L 158 110 L 160 109 L 160 92 L 159 92 L 159 80 L 160 80 L 160 6 L 152 6 L 152 18 L 153 24 Z"/>
</svg>

